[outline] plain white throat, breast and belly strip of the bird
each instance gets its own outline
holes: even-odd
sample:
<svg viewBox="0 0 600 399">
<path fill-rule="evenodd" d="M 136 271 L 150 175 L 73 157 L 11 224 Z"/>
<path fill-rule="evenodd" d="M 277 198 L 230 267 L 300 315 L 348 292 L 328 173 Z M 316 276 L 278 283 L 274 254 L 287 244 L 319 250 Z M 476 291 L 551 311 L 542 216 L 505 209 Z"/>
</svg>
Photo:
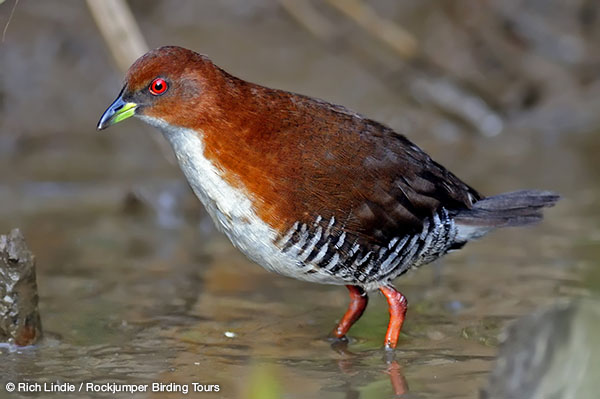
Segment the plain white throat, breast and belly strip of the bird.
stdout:
<svg viewBox="0 0 600 399">
<path fill-rule="evenodd" d="M 162 119 L 148 116 L 140 118 L 162 131 L 171 143 L 192 190 L 215 225 L 248 258 L 267 270 L 297 279 L 345 284 L 330 274 L 306 273 L 306 268 L 297 257 L 280 250 L 275 244 L 277 232 L 258 217 L 249 194 L 230 186 L 223 179 L 223 172 L 204 156 L 201 134 L 172 127 Z"/>
</svg>

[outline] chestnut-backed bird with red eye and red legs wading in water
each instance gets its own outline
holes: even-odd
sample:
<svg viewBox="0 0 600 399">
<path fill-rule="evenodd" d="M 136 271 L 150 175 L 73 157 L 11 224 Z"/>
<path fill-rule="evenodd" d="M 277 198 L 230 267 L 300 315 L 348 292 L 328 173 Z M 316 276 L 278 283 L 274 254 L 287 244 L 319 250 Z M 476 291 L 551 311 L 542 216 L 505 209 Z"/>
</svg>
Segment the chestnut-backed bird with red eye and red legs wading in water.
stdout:
<svg viewBox="0 0 600 399">
<path fill-rule="evenodd" d="M 177 46 L 132 64 L 97 129 L 130 117 L 162 132 L 216 227 L 251 261 L 347 287 L 334 339 L 347 340 L 379 290 L 390 351 L 408 306 L 393 280 L 497 228 L 539 222 L 560 198 L 483 196 L 384 124 L 244 81 Z"/>
</svg>

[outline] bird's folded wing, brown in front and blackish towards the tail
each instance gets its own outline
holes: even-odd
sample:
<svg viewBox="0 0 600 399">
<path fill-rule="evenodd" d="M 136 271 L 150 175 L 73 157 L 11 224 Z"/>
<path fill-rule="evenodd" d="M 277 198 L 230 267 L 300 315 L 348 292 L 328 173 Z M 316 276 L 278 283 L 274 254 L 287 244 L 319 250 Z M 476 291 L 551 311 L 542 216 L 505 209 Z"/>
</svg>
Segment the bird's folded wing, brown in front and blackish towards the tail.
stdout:
<svg viewBox="0 0 600 399">
<path fill-rule="evenodd" d="M 333 216 L 345 231 L 387 245 L 420 232 L 442 206 L 470 208 L 481 197 L 390 128 L 341 107 L 329 112 L 312 119 L 312 134 L 303 136 L 311 151 L 300 155 L 292 175 L 296 204 L 310 210 L 304 223 Z"/>
</svg>

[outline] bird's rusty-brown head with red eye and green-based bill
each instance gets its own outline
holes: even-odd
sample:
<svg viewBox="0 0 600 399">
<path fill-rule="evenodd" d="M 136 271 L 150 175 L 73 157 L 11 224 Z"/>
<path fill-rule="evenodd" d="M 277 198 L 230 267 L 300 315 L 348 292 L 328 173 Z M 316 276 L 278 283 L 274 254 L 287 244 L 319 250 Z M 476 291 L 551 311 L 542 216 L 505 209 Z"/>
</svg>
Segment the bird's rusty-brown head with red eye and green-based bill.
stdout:
<svg viewBox="0 0 600 399">
<path fill-rule="evenodd" d="M 129 68 L 117 99 L 102 114 L 98 130 L 138 116 L 154 125 L 194 127 L 215 112 L 224 72 L 207 57 L 176 46 L 152 50 Z"/>
</svg>

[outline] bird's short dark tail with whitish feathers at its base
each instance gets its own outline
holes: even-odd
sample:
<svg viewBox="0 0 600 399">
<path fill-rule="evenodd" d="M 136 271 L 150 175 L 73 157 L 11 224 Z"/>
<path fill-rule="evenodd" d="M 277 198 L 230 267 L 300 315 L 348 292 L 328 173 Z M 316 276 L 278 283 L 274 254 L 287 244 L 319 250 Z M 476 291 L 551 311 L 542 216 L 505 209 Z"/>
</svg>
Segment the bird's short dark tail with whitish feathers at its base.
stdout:
<svg viewBox="0 0 600 399">
<path fill-rule="evenodd" d="M 479 200 L 454 216 L 456 242 L 465 243 L 499 227 L 537 223 L 542 220 L 542 208 L 554 206 L 559 199 L 551 191 L 521 190 Z"/>
</svg>

